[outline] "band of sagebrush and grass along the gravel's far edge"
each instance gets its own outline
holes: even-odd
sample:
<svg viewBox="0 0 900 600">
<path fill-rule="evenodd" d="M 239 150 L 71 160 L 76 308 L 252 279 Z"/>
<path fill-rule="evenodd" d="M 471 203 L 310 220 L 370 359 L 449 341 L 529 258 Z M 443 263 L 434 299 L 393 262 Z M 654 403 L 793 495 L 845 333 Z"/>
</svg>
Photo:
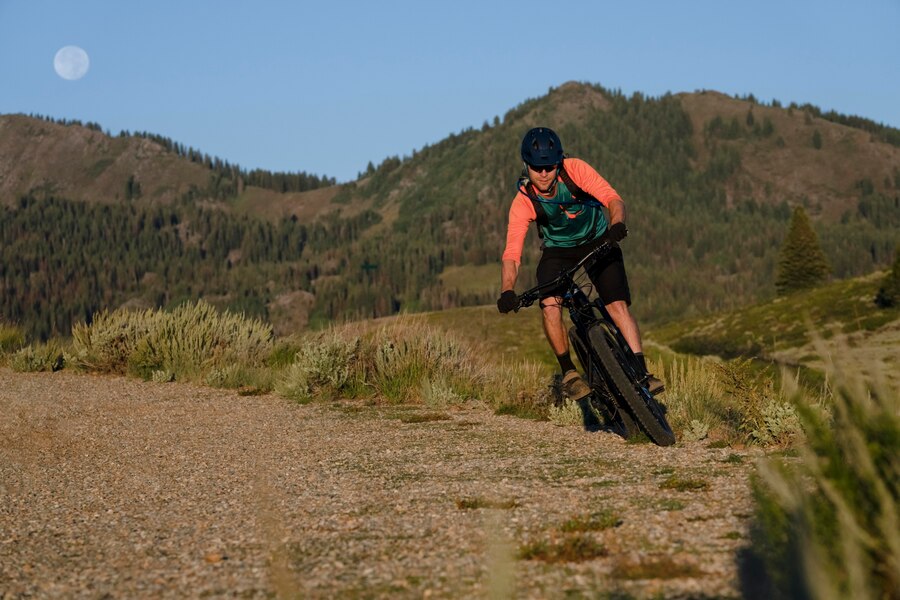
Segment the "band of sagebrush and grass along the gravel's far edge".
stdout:
<svg viewBox="0 0 900 600">
<path fill-rule="evenodd" d="M 490 343 L 414 315 L 276 339 L 256 318 L 199 301 L 172 311 L 104 311 L 65 341 L 25 345 L 18 329 L 3 332 L 17 371 L 131 375 L 299 403 L 349 398 L 442 410 L 476 402 L 559 425 L 585 422 L 585 408 L 562 397 L 545 364 L 497 358 Z M 668 382 L 669 420 L 682 439 L 785 446 L 799 433 L 786 396 L 746 362 L 676 357 L 653 368 Z"/>
</svg>

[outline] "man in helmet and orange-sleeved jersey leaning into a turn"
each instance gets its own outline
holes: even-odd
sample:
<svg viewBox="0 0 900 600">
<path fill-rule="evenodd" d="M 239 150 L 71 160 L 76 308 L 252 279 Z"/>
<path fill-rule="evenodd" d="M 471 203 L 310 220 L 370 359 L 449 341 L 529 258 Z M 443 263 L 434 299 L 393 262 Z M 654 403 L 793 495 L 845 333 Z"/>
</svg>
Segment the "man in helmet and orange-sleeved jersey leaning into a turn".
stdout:
<svg viewBox="0 0 900 600">
<path fill-rule="evenodd" d="M 519 276 L 525 234 L 532 221 L 538 222 L 543 239 L 537 267 L 538 285 L 552 281 L 601 243 L 612 242 L 613 249 L 591 267 L 588 277 L 640 361 L 650 393 L 662 393 L 665 390 L 663 382 L 647 372 L 640 329 L 628 308 L 631 292 L 622 250 L 618 246 L 618 242 L 628 235 L 625 203 L 588 163 L 563 155 L 562 142 L 552 129 L 536 127 L 526 133 L 521 154 L 525 171 L 509 209 L 506 249 L 500 272 L 503 293 L 497 300 L 497 308 L 501 313 L 508 313 L 518 306 L 513 290 Z M 608 220 L 601 206 L 607 209 Z M 540 307 L 544 333 L 562 370 L 563 390 L 569 399 L 577 401 L 588 396 L 591 389 L 578 374 L 569 353 L 562 317 L 562 293 L 559 289 L 545 290 L 541 294 Z"/>
</svg>

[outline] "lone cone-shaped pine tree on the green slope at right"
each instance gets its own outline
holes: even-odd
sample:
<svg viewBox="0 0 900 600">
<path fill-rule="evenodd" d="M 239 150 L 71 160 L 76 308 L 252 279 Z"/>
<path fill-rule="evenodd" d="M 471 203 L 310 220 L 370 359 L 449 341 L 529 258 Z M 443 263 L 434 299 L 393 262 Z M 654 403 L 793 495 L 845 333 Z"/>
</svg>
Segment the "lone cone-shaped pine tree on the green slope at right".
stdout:
<svg viewBox="0 0 900 600">
<path fill-rule="evenodd" d="M 831 267 L 802 206 L 794 209 L 781 246 L 775 288 L 779 295 L 812 288 L 831 274 Z"/>
</svg>

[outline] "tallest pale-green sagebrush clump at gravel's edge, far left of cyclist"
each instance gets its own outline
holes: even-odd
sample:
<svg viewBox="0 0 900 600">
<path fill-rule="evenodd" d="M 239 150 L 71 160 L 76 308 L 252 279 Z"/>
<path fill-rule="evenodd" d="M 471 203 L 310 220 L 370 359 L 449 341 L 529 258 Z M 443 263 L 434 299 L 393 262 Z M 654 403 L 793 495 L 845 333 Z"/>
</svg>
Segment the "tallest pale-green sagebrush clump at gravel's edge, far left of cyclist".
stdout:
<svg viewBox="0 0 900 600">
<path fill-rule="evenodd" d="M 261 367 L 272 350 L 272 327 L 258 319 L 218 312 L 200 300 L 156 315 L 135 344 L 128 371 L 144 379 L 159 373 L 200 380 L 212 369 Z"/>
</svg>

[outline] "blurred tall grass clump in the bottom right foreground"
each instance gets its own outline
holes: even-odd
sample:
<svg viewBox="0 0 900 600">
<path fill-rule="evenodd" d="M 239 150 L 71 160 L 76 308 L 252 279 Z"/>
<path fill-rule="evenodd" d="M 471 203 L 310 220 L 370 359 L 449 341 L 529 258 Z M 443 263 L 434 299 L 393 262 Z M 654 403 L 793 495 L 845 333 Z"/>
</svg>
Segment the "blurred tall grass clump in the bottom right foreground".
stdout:
<svg viewBox="0 0 900 600">
<path fill-rule="evenodd" d="M 799 464 L 760 466 L 748 564 L 761 573 L 745 580 L 760 597 L 900 598 L 900 390 L 829 372 L 830 410 L 796 398 Z"/>
</svg>

